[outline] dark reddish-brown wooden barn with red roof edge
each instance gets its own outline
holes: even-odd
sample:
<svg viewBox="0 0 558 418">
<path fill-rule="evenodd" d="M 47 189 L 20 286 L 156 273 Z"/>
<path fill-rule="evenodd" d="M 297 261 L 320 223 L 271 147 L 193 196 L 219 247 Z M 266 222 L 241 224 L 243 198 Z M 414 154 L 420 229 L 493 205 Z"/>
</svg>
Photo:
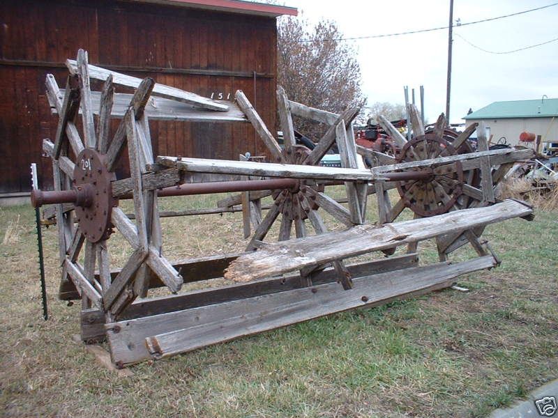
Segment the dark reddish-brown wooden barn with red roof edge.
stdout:
<svg viewBox="0 0 558 418">
<path fill-rule="evenodd" d="M 199 95 L 233 98 L 241 89 L 276 126 L 279 15 L 296 9 L 239 0 L 1 1 L 0 197 L 29 192 L 31 162 L 40 186 L 52 187 L 50 162 L 40 157 L 42 139 L 56 132 L 45 75 L 64 85 L 64 61 L 79 48 L 92 64 Z M 151 132 L 160 155 L 264 152 L 248 124 L 151 122 Z"/>
</svg>

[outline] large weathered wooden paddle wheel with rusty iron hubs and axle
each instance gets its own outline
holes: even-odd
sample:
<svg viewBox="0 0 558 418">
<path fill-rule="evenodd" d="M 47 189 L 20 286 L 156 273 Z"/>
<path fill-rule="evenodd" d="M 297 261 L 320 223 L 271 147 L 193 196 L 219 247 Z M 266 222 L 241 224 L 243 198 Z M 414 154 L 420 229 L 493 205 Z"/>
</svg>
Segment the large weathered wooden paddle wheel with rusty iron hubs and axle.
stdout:
<svg viewBox="0 0 558 418">
<path fill-rule="evenodd" d="M 352 121 L 359 109 L 331 114 L 291 102 L 278 88 L 285 139 L 280 148 L 242 91 L 236 92 L 235 102 L 209 100 L 150 78 L 89 65 L 82 50 L 67 66 L 65 89 L 52 75 L 46 80 L 47 96 L 59 116 L 54 141 L 43 141 L 52 158 L 54 191 L 37 190 L 32 200 L 35 206 L 54 205 L 60 298 L 81 299 L 82 339 L 107 339 L 116 366 L 451 286 L 460 274 L 499 263 L 479 238 L 486 225 L 532 216 L 527 204 L 498 201 L 494 195 L 508 167 L 531 157 L 531 150 L 488 150 L 479 135 L 479 150 L 471 152 L 467 137 L 474 127 L 449 144 L 440 134 L 444 118 L 425 134 L 414 106 L 409 107 L 416 134 L 412 141 L 386 125 L 401 150 L 390 156 L 354 143 Z M 91 91 L 91 79 L 104 82 L 103 91 Z M 115 84 L 133 88 L 133 94 L 114 93 Z M 296 145 L 292 114 L 329 125 L 312 150 Z M 121 119 L 112 136 L 110 118 Z M 272 162 L 153 155 L 148 118 L 251 123 Z M 342 167 L 321 167 L 319 161 L 333 144 Z M 126 145 L 130 177 L 116 179 L 114 169 Z M 359 153 L 373 162 L 372 169 L 363 167 Z M 192 173 L 257 179 L 187 183 Z M 329 196 L 331 185 L 344 185 L 346 198 Z M 390 189 L 399 196 L 393 204 Z M 217 192 L 239 192 L 221 201 L 216 212 L 242 205 L 245 235 L 250 237 L 246 250 L 169 261 L 158 199 Z M 266 196 L 273 201 L 264 206 Z M 133 216 L 119 208 L 123 199 L 133 199 Z M 368 199 L 377 200 L 372 223 L 365 218 Z M 405 208 L 414 212 L 414 219 L 398 221 Z M 345 230 L 328 232 L 324 212 Z M 264 241 L 274 222 L 280 222 L 278 242 Z M 132 249 L 119 269 L 110 265 L 110 238 L 116 231 Z M 437 244 L 439 262 L 419 265 L 417 244 L 430 239 Z M 464 245 L 472 245 L 477 256 L 449 261 Z M 407 251 L 394 254 L 397 247 Z M 349 262 L 375 251 L 385 256 Z M 217 277 L 230 283 L 181 292 L 183 283 Z M 151 297 L 151 289 L 163 286 L 169 294 Z"/>
</svg>

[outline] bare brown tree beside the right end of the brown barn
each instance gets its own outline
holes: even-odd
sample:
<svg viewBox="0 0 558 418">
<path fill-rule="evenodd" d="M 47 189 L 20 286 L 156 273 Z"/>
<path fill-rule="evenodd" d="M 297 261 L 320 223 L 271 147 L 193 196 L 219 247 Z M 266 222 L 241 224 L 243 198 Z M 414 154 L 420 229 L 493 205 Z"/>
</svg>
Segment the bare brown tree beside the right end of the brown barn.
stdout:
<svg viewBox="0 0 558 418">
<path fill-rule="evenodd" d="M 356 50 L 345 41 L 335 22 L 312 27 L 305 20 L 285 18 L 278 25 L 278 84 L 290 100 L 340 113 L 362 107 L 361 68 Z M 295 119 L 303 134 L 318 139 L 326 127 Z"/>
</svg>

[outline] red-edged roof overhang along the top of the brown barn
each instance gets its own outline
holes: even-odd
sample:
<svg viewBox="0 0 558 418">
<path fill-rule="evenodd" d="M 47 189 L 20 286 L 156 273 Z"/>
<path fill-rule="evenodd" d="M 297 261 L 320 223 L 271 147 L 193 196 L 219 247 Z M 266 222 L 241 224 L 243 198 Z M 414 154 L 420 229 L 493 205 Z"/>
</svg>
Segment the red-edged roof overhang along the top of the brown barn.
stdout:
<svg viewBox="0 0 558 418">
<path fill-rule="evenodd" d="M 243 15 L 260 15 L 278 17 L 280 15 L 298 15 L 294 7 L 276 6 L 246 0 L 128 0 L 137 3 L 155 3 L 168 6 L 217 10 L 221 12 L 240 13 Z"/>
</svg>

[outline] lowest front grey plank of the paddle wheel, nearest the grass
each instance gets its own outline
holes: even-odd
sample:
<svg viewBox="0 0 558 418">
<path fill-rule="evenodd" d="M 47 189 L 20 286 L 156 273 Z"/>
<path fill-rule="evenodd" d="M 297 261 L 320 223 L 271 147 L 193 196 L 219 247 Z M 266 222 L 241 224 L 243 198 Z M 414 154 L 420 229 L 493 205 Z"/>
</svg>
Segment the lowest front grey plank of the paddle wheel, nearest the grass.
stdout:
<svg viewBox="0 0 558 418">
<path fill-rule="evenodd" d="M 147 334 L 161 329 L 163 320 L 165 326 L 174 326 L 175 330 L 151 334 L 146 337 L 145 342 L 151 357 L 160 359 L 347 309 L 371 307 L 396 298 L 428 293 L 450 286 L 460 274 L 491 268 L 494 265 L 492 256 L 454 265 L 438 263 L 360 277 L 354 280 L 352 291 L 342 291 L 336 284 L 323 284 L 276 295 L 200 307 L 191 311 L 163 314 L 158 318 L 151 317 L 152 320 L 148 324 L 142 323 L 143 327 L 150 327 Z M 132 356 L 125 357 L 128 353 L 120 349 L 122 341 L 130 332 L 140 334 L 140 321 L 142 320 L 120 323 L 119 329 L 125 330 L 126 334 L 114 333 L 110 330 L 112 325 L 107 325 L 113 360 L 127 363 L 130 359 L 138 361 L 146 358 L 140 357 L 145 353 L 136 355 L 135 359 Z M 145 331 L 143 333 L 145 334 Z"/>
</svg>

